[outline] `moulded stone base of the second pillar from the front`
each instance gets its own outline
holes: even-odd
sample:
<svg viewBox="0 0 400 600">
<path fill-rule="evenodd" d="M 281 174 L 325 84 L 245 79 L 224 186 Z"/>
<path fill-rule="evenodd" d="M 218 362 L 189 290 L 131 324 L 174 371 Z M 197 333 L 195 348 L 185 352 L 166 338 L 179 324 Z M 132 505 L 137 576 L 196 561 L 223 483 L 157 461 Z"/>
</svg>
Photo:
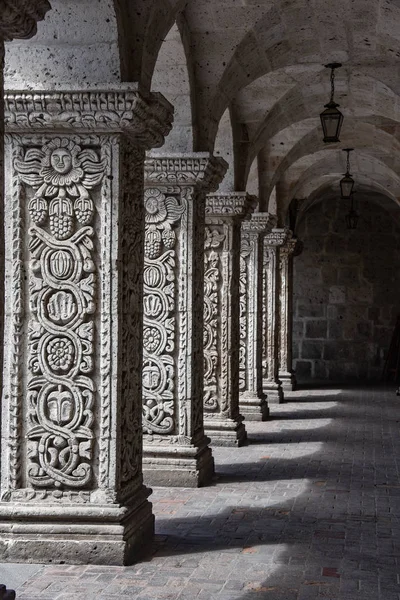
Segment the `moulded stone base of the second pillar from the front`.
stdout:
<svg viewBox="0 0 400 600">
<path fill-rule="evenodd" d="M 214 459 L 209 438 L 199 445 L 183 446 L 146 443 L 144 437 L 143 476 L 148 485 L 168 487 L 202 487 L 214 476 Z"/>
</svg>

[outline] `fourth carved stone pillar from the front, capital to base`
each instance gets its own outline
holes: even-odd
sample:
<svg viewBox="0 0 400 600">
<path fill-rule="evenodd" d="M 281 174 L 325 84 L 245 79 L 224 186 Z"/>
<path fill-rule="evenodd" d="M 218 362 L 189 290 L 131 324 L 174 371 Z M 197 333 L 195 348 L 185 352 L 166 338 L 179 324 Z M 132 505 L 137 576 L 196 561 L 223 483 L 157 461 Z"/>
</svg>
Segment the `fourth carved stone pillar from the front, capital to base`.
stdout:
<svg viewBox="0 0 400 600">
<path fill-rule="evenodd" d="M 268 213 L 253 213 L 242 223 L 239 408 L 248 421 L 265 421 L 269 414 L 262 381 L 262 278 L 263 240 L 274 224 Z"/>
</svg>

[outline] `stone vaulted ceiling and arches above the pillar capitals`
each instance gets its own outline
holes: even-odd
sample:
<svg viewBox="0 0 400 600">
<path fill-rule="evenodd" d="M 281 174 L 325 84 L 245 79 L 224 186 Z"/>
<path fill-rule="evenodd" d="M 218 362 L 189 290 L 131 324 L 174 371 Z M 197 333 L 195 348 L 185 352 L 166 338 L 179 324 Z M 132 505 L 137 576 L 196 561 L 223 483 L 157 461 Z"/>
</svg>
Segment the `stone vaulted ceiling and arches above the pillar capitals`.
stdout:
<svg viewBox="0 0 400 600">
<path fill-rule="evenodd" d="M 143 93 L 164 93 L 176 106 L 168 150 L 223 154 L 225 143 L 227 157 L 235 158 L 232 186 L 254 187 L 249 174 L 257 176 L 257 165 L 262 195 L 268 199 L 276 186 L 283 212 L 293 198 L 337 185 L 341 150 L 349 146 L 360 189 L 400 201 L 399 0 L 52 4 L 28 43 L 26 64 L 27 43 L 10 45 L 9 87 L 35 86 L 46 71 L 51 84 L 64 85 L 73 78 L 60 66 L 68 52 L 75 81 L 136 81 Z M 53 55 L 45 71 L 44 44 Z M 319 114 L 330 92 L 324 65 L 333 61 L 343 65 L 335 99 L 344 125 L 340 143 L 324 144 Z"/>
</svg>

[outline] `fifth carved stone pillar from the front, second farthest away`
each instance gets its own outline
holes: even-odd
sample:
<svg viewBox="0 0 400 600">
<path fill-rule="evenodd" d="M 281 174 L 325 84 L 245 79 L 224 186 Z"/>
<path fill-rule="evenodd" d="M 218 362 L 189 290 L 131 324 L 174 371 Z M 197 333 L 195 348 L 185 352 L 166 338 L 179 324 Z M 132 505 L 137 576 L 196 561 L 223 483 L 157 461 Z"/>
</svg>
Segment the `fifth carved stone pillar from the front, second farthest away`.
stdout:
<svg viewBox="0 0 400 600">
<path fill-rule="evenodd" d="M 279 372 L 279 248 L 289 237 L 287 229 L 273 229 L 264 238 L 263 390 L 268 404 L 283 402 Z"/>
</svg>

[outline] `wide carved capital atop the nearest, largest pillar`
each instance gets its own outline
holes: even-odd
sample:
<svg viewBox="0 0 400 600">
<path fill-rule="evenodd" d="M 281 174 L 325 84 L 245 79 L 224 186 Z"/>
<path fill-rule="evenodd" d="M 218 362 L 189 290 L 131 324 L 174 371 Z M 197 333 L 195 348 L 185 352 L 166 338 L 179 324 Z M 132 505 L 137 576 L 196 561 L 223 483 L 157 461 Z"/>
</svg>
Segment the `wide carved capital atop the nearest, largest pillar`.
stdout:
<svg viewBox="0 0 400 600">
<path fill-rule="evenodd" d="M 145 99 L 135 84 L 104 91 L 7 92 L 4 109 L 8 133 L 124 133 L 144 148 L 161 146 L 173 120 L 173 107 L 162 95 Z"/>
</svg>

